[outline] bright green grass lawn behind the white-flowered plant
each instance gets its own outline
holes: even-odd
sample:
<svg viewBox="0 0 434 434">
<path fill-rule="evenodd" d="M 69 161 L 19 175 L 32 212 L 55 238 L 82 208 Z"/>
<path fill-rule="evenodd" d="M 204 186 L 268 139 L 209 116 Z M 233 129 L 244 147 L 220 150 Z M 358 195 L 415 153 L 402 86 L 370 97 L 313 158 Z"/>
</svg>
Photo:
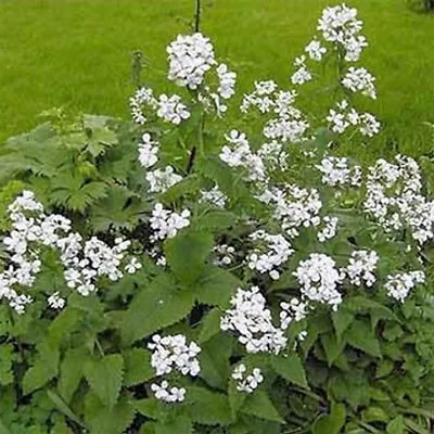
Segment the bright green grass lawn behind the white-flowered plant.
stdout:
<svg viewBox="0 0 434 434">
<path fill-rule="evenodd" d="M 206 0 L 205 0 L 206 1 Z M 165 47 L 188 31 L 193 0 L 0 0 L 0 140 L 38 123 L 38 113 L 67 105 L 128 116 L 131 53 L 151 60 L 150 81 L 163 84 Z M 311 38 L 329 0 L 214 0 L 202 29 L 221 59 L 247 84 L 286 85 L 290 61 Z M 432 146 L 423 122 L 434 122 L 434 16 L 406 0 L 350 0 L 370 41 L 363 62 L 378 77 L 370 104 L 385 133 L 373 151 L 398 138 L 401 152 Z M 164 86 L 164 85 L 162 85 Z M 320 101 L 319 101 L 320 103 Z"/>
</svg>

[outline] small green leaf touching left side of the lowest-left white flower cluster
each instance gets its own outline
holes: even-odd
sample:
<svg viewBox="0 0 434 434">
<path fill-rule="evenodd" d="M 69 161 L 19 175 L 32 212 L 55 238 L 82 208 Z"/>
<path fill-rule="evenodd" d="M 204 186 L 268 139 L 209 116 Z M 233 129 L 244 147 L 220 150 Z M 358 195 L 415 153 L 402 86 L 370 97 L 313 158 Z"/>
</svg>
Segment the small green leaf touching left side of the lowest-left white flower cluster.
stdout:
<svg viewBox="0 0 434 434">
<path fill-rule="evenodd" d="M 151 353 L 145 348 L 131 348 L 124 353 L 124 384 L 129 387 L 144 383 L 155 376 L 151 366 Z"/>
</svg>

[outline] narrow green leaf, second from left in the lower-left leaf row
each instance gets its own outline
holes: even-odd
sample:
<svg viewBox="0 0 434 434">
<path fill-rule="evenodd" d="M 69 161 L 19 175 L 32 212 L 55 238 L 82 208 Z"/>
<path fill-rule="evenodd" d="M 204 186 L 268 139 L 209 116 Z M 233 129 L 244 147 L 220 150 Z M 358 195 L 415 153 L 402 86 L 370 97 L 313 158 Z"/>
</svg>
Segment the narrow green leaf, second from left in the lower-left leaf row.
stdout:
<svg viewBox="0 0 434 434">
<path fill-rule="evenodd" d="M 61 362 L 59 392 L 66 403 L 71 403 L 75 391 L 82 378 L 82 367 L 89 359 L 89 354 L 84 348 L 67 349 Z"/>
</svg>

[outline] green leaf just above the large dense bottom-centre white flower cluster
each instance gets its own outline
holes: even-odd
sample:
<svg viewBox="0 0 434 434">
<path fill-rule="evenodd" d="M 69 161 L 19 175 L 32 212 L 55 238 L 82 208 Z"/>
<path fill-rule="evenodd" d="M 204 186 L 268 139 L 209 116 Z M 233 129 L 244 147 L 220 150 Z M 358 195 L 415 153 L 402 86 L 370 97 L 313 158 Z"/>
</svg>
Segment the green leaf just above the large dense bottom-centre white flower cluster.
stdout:
<svg viewBox="0 0 434 434">
<path fill-rule="evenodd" d="M 230 271 L 208 265 L 196 283 L 195 296 L 200 303 L 225 309 L 240 286 L 240 280 Z"/>
</svg>

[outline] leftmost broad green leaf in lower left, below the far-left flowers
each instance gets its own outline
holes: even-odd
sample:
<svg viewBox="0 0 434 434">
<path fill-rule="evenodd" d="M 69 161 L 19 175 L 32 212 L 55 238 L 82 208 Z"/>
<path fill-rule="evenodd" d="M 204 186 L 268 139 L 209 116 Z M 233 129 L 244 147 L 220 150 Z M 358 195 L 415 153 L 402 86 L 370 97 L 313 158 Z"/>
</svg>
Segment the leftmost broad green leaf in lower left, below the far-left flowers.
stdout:
<svg viewBox="0 0 434 434">
<path fill-rule="evenodd" d="M 47 342 L 38 346 L 38 355 L 34 366 L 28 369 L 23 379 L 24 394 L 29 394 L 42 387 L 58 374 L 59 349 L 52 348 Z"/>
</svg>

